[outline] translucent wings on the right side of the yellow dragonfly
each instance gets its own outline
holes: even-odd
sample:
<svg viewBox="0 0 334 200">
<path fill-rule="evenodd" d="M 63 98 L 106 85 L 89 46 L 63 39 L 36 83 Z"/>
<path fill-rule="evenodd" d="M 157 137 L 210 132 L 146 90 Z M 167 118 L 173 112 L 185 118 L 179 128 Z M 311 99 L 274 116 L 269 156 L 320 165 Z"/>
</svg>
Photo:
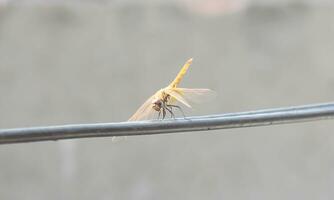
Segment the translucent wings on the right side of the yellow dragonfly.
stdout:
<svg viewBox="0 0 334 200">
<path fill-rule="evenodd" d="M 168 88 L 165 92 L 189 108 L 191 103 L 205 102 L 215 96 L 214 91 L 202 88 Z"/>
</svg>

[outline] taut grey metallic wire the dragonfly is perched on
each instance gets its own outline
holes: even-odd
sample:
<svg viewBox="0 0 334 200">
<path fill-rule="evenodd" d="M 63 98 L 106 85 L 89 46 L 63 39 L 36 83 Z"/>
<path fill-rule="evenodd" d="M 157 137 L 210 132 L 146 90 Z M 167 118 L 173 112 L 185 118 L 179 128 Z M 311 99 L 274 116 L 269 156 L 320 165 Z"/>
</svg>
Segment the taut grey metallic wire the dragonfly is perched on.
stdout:
<svg viewBox="0 0 334 200">
<path fill-rule="evenodd" d="M 168 120 L 0 129 L 0 144 L 87 137 L 154 135 L 268 126 L 334 118 L 334 103 Z"/>
</svg>

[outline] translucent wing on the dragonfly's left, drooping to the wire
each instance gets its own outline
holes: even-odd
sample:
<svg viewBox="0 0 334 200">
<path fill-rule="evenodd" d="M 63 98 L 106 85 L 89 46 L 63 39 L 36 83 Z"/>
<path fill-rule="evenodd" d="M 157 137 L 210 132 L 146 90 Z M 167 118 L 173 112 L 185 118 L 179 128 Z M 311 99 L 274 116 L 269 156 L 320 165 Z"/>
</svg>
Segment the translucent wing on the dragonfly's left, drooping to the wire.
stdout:
<svg viewBox="0 0 334 200">
<path fill-rule="evenodd" d="M 150 119 L 156 111 L 152 108 L 152 101 L 155 95 L 148 98 L 143 105 L 130 117 L 128 121 L 141 121 Z"/>
</svg>

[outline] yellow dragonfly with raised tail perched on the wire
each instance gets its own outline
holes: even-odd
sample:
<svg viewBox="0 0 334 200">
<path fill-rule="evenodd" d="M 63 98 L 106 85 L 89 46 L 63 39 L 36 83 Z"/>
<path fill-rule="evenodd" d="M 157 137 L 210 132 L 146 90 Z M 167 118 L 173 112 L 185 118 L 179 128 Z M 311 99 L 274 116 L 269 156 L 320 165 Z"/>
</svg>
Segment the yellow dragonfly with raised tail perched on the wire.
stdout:
<svg viewBox="0 0 334 200">
<path fill-rule="evenodd" d="M 176 103 L 181 103 L 189 108 L 191 105 L 189 102 L 198 102 L 198 100 L 203 99 L 202 97 L 209 96 L 212 94 L 210 89 L 189 89 L 189 88 L 179 88 L 177 87 L 181 82 L 182 78 L 186 74 L 189 66 L 191 65 L 193 59 L 189 59 L 182 67 L 180 72 L 177 74 L 176 78 L 165 88 L 160 89 L 145 103 L 139 107 L 139 109 L 131 116 L 129 121 L 140 121 L 152 118 L 154 114 L 158 112 L 158 119 L 162 115 L 162 119 L 166 117 L 168 112 L 171 117 L 175 118 L 173 113 L 173 108 L 179 109 L 183 116 L 185 117 L 180 106 Z M 211 95 L 210 95 L 211 96 Z"/>
</svg>

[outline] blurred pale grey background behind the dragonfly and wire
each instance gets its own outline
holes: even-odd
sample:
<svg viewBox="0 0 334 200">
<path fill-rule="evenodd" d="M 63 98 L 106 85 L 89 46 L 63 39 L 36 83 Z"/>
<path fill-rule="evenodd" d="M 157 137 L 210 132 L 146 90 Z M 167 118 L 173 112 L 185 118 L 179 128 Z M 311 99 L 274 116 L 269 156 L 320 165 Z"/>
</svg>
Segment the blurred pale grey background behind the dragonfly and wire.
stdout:
<svg viewBox="0 0 334 200">
<path fill-rule="evenodd" d="M 0 128 L 126 121 L 181 83 L 190 115 L 334 99 L 330 1 L 0 1 Z M 0 146 L 0 199 L 333 199 L 333 121 Z"/>
</svg>

